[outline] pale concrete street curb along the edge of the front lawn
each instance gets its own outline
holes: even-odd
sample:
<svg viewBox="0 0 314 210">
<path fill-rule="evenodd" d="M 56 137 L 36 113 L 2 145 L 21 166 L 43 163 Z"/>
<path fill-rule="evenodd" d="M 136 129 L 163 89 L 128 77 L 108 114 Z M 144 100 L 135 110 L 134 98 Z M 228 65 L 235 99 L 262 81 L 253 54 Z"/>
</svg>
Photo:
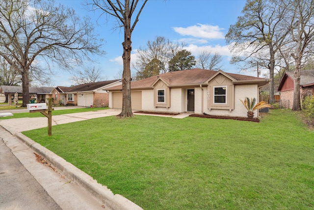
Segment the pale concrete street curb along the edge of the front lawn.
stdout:
<svg viewBox="0 0 314 210">
<path fill-rule="evenodd" d="M 126 199 L 122 195 L 113 194 L 106 186 L 97 183 L 91 176 L 85 172 L 79 170 L 73 164 L 67 162 L 62 157 L 59 157 L 52 151 L 36 143 L 32 139 L 23 135 L 22 133 L 16 133 L 15 136 L 23 141 L 27 146 L 49 161 L 58 171 L 64 174 L 66 177 L 78 183 L 86 191 L 91 193 L 94 197 L 99 199 L 105 204 L 105 207 L 111 210 L 143 210 L 135 203 Z"/>
</svg>

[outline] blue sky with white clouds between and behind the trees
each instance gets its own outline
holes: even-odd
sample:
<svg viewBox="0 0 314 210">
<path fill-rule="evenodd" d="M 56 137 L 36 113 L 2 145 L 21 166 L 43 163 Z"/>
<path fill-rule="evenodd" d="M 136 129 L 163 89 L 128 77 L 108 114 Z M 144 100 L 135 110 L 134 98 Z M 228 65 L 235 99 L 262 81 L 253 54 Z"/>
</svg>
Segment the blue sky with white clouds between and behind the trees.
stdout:
<svg viewBox="0 0 314 210">
<path fill-rule="evenodd" d="M 105 40 L 103 50 L 105 57 L 95 57 L 97 63 L 87 63 L 86 66 L 100 68 L 105 80 L 113 80 L 122 72 L 123 30 L 112 30 L 115 19 L 106 21 L 105 16 L 99 18 L 99 13 L 88 12 L 82 5 L 83 0 L 55 0 L 67 7 L 72 7 L 80 16 L 90 16 L 95 23 L 96 33 Z M 235 65 L 229 64 L 231 53 L 228 50 L 224 36 L 231 24 L 241 15 L 246 0 L 148 0 L 132 33 L 132 56 L 135 59 L 136 49 L 145 47 L 147 41 L 153 41 L 157 36 L 163 36 L 172 42 L 184 42 L 185 49 L 195 57 L 207 50 L 223 56 L 222 70 L 239 73 Z M 83 69 L 84 66 L 78 67 Z M 241 72 L 255 76 L 256 72 Z M 54 86 L 71 86 L 71 74 L 56 71 L 52 78 Z"/>
</svg>

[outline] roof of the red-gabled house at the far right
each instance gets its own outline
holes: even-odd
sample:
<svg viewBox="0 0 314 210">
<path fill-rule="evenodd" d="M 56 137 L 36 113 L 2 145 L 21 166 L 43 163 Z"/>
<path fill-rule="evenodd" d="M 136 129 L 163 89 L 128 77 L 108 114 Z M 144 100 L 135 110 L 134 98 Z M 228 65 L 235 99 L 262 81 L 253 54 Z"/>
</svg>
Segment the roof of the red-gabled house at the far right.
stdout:
<svg viewBox="0 0 314 210">
<path fill-rule="evenodd" d="M 281 78 L 278 90 L 280 91 L 287 80 L 287 77 L 294 81 L 294 71 L 285 71 Z M 300 71 L 300 86 L 307 87 L 314 85 L 314 70 L 301 70 Z"/>
</svg>

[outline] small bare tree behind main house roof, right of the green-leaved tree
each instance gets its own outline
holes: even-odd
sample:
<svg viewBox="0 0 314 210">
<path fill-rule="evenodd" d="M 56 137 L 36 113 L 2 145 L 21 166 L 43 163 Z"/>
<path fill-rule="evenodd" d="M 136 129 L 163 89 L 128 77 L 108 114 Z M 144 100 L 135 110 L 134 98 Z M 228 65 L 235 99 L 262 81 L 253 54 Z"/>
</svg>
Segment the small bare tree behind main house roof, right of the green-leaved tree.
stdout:
<svg viewBox="0 0 314 210">
<path fill-rule="evenodd" d="M 218 53 L 212 55 L 211 52 L 204 50 L 197 56 L 196 67 L 218 71 L 222 67 L 221 61 L 222 56 Z"/>
</svg>

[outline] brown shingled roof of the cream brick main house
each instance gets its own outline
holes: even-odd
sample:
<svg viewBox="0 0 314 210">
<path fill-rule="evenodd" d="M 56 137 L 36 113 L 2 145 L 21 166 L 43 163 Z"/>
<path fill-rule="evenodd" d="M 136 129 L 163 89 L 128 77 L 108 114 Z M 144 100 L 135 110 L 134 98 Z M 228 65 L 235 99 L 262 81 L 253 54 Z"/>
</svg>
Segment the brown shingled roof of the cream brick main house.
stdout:
<svg viewBox="0 0 314 210">
<path fill-rule="evenodd" d="M 222 70 L 212 71 L 205 69 L 188 69 L 182 71 L 167 72 L 164 74 L 159 74 L 158 76 L 153 76 L 143 80 L 131 82 L 131 90 L 153 89 L 153 85 L 159 80 L 162 80 L 164 83 L 166 83 L 168 87 L 207 85 L 209 79 L 216 74 L 223 74 L 226 77 L 231 78 L 234 82 L 239 83 L 268 83 L 268 80 L 264 78 L 226 73 Z M 122 90 L 122 85 L 105 90 Z"/>
</svg>

